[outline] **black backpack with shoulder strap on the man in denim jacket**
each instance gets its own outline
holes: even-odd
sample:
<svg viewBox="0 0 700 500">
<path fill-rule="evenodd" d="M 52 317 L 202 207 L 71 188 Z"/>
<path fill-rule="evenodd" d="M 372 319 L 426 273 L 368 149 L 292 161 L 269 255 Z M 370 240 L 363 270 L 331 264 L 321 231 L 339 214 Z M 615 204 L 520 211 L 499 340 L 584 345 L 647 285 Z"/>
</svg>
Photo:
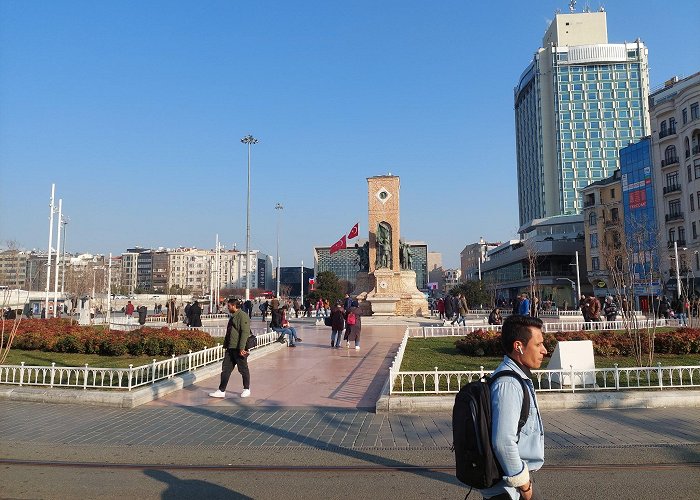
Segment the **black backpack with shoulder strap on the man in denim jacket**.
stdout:
<svg viewBox="0 0 700 500">
<path fill-rule="evenodd" d="M 452 408 L 457 479 L 472 488 L 490 488 L 503 477 L 503 469 L 491 448 L 490 385 L 500 377 L 513 377 L 523 386 L 523 406 L 518 421 L 520 437 L 520 429 L 527 422 L 530 413 L 530 392 L 522 377 L 512 370 L 500 371 L 491 377 L 465 385 L 457 393 Z"/>
</svg>

